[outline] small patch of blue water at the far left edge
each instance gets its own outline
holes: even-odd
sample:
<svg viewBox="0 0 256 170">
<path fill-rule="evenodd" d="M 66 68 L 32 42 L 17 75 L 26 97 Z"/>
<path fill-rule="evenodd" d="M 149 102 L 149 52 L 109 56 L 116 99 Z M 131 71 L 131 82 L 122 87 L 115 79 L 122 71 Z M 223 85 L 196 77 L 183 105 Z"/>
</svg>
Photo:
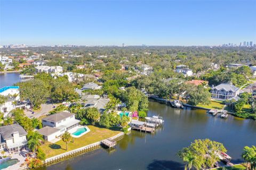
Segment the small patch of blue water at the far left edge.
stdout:
<svg viewBox="0 0 256 170">
<path fill-rule="evenodd" d="M 0 73 L 0 88 L 19 82 L 19 75 L 20 73 Z"/>
</svg>

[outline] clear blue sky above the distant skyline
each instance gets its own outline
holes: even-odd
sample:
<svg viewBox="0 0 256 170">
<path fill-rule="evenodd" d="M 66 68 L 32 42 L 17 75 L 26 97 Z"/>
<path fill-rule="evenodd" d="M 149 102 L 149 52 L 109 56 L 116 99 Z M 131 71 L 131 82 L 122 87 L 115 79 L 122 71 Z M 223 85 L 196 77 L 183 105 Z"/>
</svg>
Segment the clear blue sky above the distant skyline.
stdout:
<svg viewBox="0 0 256 170">
<path fill-rule="evenodd" d="M 256 43 L 256 1 L 3 1 L 0 44 Z"/>
</svg>

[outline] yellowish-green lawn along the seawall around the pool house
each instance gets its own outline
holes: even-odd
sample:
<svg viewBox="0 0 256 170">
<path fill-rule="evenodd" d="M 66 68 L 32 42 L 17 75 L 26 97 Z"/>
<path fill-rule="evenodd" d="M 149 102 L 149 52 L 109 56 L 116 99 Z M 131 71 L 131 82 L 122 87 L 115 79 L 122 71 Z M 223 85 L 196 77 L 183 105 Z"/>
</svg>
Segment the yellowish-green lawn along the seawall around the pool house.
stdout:
<svg viewBox="0 0 256 170">
<path fill-rule="evenodd" d="M 90 132 L 84 134 L 80 138 L 74 138 L 74 143 L 73 142 L 68 143 L 68 150 L 66 150 L 66 143 L 63 142 L 62 140 L 56 143 L 45 142 L 41 146 L 41 148 L 45 152 L 46 158 L 50 158 L 52 156 L 62 154 L 66 151 L 70 151 L 77 148 L 81 148 L 86 145 L 90 145 L 91 143 L 113 137 L 114 135 L 120 133 L 120 131 L 113 131 L 105 128 L 98 128 L 92 125 L 89 125 L 88 128 L 91 130 Z"/>
</svg>

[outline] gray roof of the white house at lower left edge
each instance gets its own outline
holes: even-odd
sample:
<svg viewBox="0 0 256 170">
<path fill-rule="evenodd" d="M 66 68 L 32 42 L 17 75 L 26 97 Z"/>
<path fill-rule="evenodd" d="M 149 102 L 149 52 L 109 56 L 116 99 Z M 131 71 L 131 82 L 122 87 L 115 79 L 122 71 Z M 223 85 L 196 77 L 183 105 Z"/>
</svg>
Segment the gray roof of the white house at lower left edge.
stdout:
<svg viewBox="0 0 256 170">
<path fill-rule="evenodd" d="M 20 137 L 28 134 L 19 124 L 0 127 L 0 133 L 4 140 L 13 138 L 13 132 L 19 132 Z"/>
</svg>

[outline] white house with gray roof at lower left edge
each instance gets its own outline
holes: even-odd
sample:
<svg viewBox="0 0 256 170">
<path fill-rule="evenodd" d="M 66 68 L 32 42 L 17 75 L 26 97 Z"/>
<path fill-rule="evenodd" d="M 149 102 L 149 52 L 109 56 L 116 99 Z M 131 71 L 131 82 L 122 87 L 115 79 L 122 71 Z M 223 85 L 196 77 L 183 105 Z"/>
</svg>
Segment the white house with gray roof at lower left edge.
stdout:
<svg viewBox="0 0 256 170">
<path fill-rule="evenodd" d="M 28 133 L 19 124 L 11 124 L 0 127 L 0 150 L 19 152 L 27 145 Z"/>
</svg>

